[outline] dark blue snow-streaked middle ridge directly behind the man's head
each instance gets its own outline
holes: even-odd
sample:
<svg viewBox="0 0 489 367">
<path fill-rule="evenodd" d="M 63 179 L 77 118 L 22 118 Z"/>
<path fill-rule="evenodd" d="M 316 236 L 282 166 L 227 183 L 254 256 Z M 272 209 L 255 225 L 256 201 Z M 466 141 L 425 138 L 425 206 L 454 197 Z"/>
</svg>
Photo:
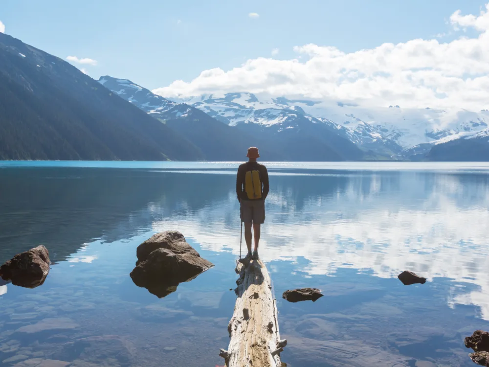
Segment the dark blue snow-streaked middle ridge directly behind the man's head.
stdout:
<svg viewBox="0 0 489 367">
<path fill-rule="evenodd" d="M 207 152 L 206 157 L 213 159 L 235 159 L 235 154 L 230 157 L 225 147 L 236 154 L 239 149 L 242 158 L 250 145 L 263 147 L 269 160 L 353 161 L 365 158 L 365 153 L 343 133 L 344 128 L 308 116 L 296 106 L 247 109 L 243 104 L 253 103 L 253 95 L 243 93 L 235 95 L 234 101 L 219 114 L 199 103 L 191 106 L 156 96 L 127 79 L 103 76 L 99 82 L 177 130 Z M 246 147 L 242 146 L 244 142 Z"/>
</svg>

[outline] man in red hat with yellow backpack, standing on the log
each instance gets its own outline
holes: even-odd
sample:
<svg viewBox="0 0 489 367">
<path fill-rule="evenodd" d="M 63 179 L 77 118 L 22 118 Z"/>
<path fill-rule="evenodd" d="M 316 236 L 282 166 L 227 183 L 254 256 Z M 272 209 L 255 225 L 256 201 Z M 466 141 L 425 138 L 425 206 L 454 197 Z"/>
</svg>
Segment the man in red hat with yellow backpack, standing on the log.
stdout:
<svg viewBox="0 0 489 367">
<path fill-rule="evenodd" d="M 268 195 L 267 168 L 258 163 L 258 148 L 248 148 L 248 162 L 238 168 L 236 177 L 236 194 L 240 202 L 241 221 L 244 223 L 244 240 L 248 253 L 246 259 L 258 260 L 258 242 L 260 241 L 260 225 L 265 222 L 265 199 Z M 251 252 L 251 227 L 253 226 L 255 247 Z"/>
</svg>

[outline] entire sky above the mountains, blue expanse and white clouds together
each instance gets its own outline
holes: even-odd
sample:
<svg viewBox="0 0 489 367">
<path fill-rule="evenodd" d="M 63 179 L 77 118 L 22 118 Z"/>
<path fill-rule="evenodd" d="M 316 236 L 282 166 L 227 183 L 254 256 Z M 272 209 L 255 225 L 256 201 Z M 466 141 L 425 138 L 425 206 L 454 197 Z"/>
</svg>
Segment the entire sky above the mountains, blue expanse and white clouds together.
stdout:
<svg viewBox="0 0 489 367">
<path fill-rule="evenodd" d="M 167 97 L 489 108 L 488 0 L 1 0 L 0 31 Z M 482 13 L 481 13 L 482 12 Z"/>
</svg>

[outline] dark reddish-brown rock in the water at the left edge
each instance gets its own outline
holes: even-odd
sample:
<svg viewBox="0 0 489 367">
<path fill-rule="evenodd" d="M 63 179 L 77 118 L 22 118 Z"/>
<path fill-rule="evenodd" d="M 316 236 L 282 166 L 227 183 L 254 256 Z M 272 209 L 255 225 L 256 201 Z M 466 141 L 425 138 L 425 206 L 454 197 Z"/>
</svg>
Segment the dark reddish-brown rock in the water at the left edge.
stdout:
<svg viewBox="0 0 489 367">
<path fill-rule="evenodd" d="M 35 288 L 44 283 L 49 273 L 49 252 L 44 246 L 15 255 L 0 267 L 3 280 L 26 288 Z"/>
</svg>

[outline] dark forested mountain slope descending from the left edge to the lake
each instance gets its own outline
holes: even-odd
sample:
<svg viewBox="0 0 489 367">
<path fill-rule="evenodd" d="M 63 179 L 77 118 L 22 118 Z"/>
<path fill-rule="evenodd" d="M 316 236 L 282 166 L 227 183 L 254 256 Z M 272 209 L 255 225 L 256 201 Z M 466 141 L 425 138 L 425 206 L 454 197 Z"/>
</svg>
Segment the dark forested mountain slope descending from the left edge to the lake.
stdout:
<svg viewBox="0 0 489 367">
<path fill-rule="evenodd" d="M 190 141 L 80 70 L 0 33 L 0 158 L 200 160 Z"/>
</svg>

